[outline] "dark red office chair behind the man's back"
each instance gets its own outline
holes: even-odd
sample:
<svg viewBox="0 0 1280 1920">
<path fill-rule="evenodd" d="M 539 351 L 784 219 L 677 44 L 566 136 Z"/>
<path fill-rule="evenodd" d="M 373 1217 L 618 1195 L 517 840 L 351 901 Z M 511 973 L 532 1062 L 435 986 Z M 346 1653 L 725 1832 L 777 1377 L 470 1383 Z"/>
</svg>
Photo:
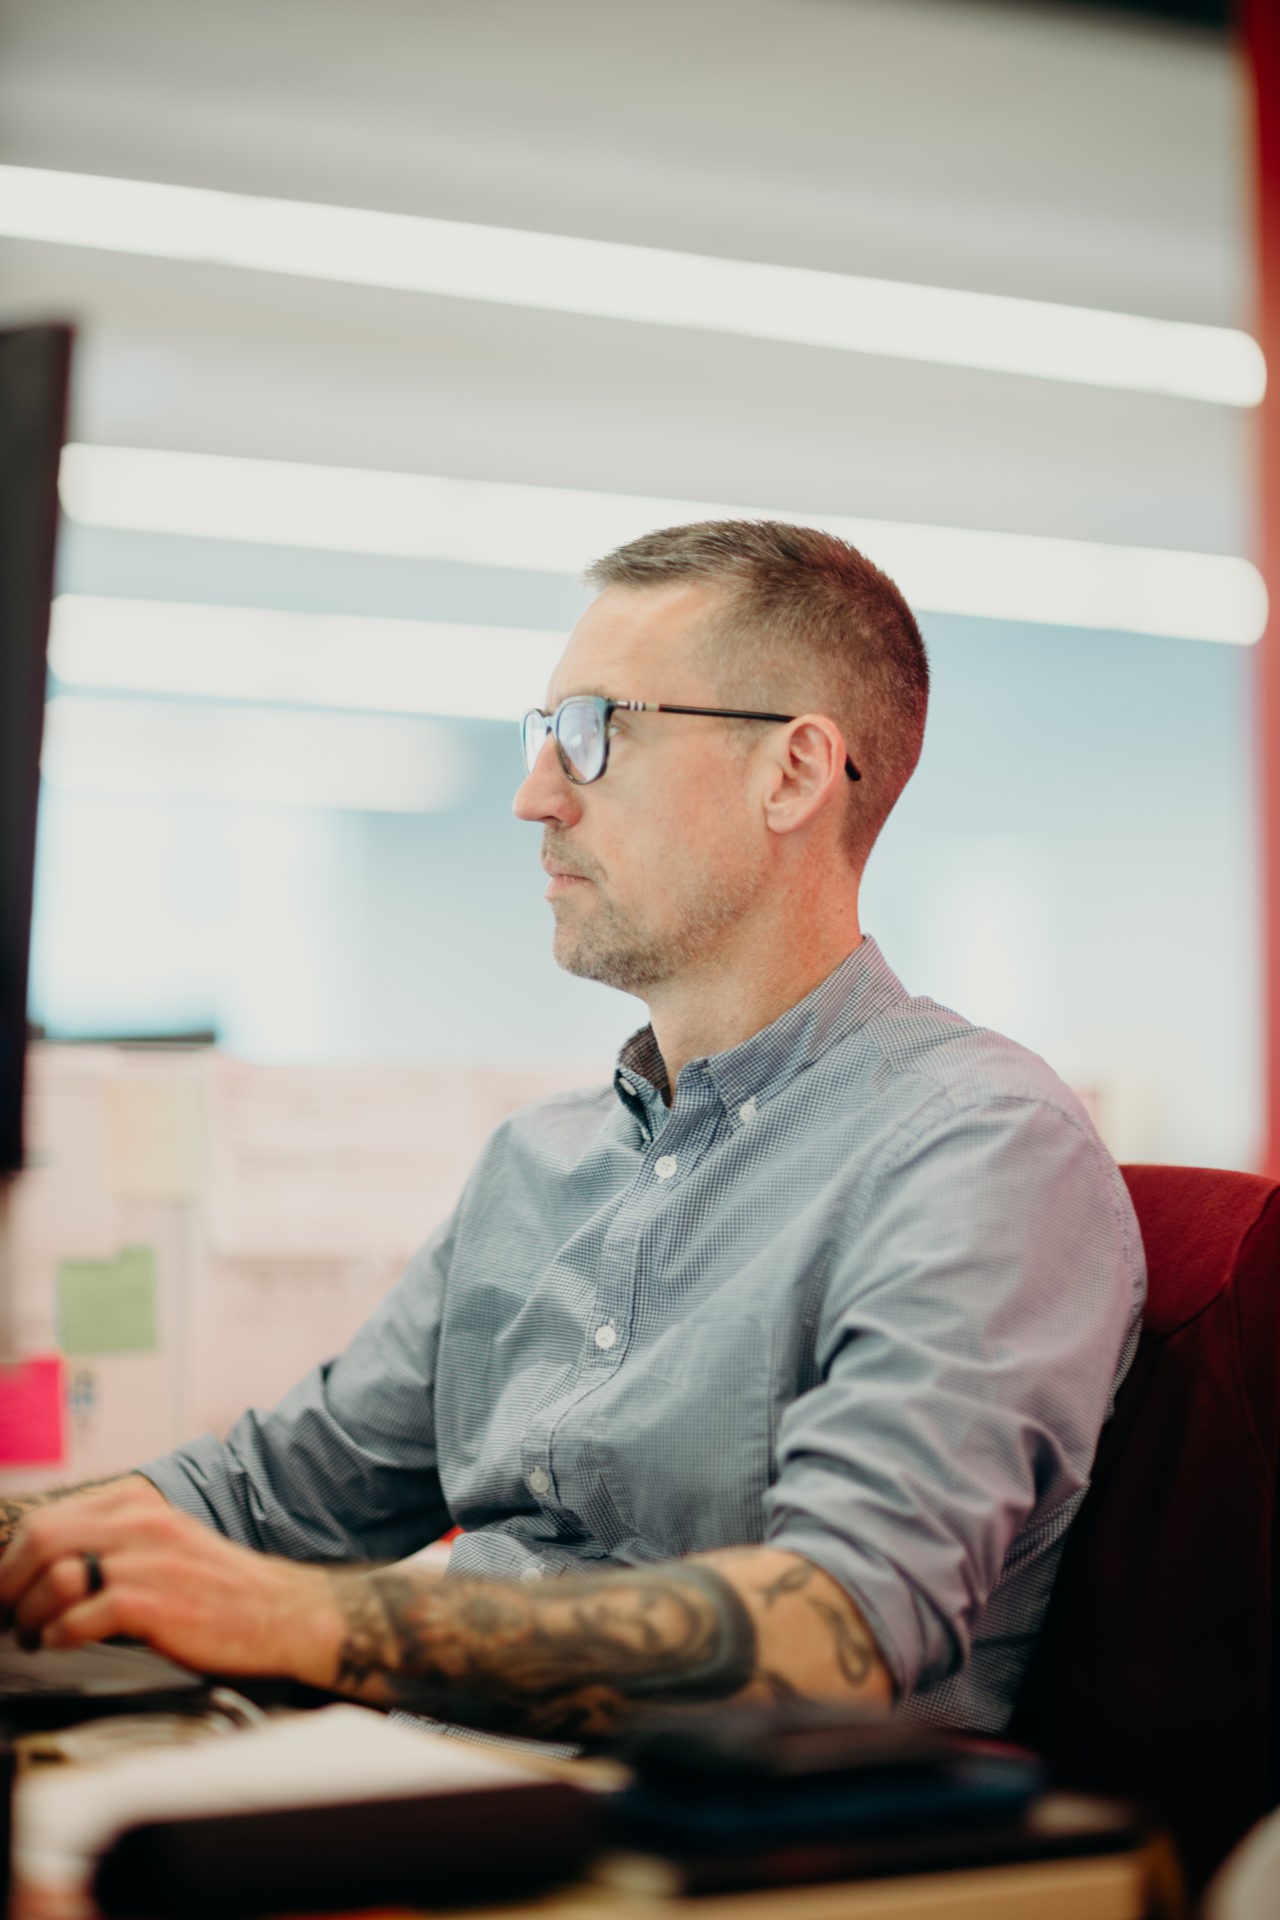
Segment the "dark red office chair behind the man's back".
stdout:
<svg viewBox="0 0 1280 1920">
<path fill-rule="evenodd" d="M 1009 1738 L 1142 1801 L 1199 1885 L 1280 1799 L 1280 1185 L 1123 1171 L 1144 1332 Z"/>
</svg>

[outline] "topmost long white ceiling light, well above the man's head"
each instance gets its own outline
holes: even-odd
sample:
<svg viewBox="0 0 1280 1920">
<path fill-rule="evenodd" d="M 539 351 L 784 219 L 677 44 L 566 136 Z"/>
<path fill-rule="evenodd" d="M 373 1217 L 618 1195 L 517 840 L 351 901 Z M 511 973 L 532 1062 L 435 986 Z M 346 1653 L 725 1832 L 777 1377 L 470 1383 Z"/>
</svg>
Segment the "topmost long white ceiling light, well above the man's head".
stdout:
<svg viewBox="0 0 1280 1920">
<path fill-rule="evenodd" d="M 1267 384 L 1232 326 L 92 173 L 0 167 L 0 234 L 1234 407 Z"/>
</svg>

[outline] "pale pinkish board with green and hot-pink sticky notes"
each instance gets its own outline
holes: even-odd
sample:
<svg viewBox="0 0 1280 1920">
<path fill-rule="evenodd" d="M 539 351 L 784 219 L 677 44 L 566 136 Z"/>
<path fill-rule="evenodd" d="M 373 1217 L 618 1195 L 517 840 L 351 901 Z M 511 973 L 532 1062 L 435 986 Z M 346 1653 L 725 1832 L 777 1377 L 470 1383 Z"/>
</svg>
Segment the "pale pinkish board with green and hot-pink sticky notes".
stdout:
<svg viewBox="0 0 1280 1920">
<path fill-rule="evenodd" d="M 35 1046 L 0 1494 L 273 1405 L 393 1286 L 507 1114 L 603 1077 Z"/>
</svg>

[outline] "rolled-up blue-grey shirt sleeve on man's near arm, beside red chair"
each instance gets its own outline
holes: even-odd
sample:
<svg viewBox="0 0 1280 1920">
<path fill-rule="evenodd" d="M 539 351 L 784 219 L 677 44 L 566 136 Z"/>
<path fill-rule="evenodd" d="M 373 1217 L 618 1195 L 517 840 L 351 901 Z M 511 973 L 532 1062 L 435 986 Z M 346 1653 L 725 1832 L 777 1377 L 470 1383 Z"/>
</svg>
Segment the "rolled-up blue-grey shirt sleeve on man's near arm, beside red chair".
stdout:
<svg viewBox="0 0 1280 1920">
<path fill-rule="evenodd" d="M 1029 1553 L 1075 1511 L 1132 1352 L 1142 1252 L 1098 1139 L 1038 1100 L 927 1116 L 854 1213 L 821 1294 L 819 1380 L 779 1425 L 766 1536 L 846 1588 L 910 1693 L 969 1657 L 1015 1538 Z"/>
</svg>

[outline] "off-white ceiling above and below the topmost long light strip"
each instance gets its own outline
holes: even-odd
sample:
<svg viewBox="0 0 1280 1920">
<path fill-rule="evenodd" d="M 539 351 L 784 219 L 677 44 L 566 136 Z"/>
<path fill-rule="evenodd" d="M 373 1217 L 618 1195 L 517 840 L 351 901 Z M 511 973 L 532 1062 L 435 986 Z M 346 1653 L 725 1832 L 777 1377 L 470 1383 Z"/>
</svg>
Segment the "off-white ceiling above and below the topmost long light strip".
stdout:
<svg viewBox="0 0 1280 1920">
<path fill-rule="evenodd" d="M 1224 44 L 961 0 L 4 0 L 0 159 L 1249 321 Z M 83 438 L 1247 553 L 1232 409 L 0 246 Z"/>
</svg>

